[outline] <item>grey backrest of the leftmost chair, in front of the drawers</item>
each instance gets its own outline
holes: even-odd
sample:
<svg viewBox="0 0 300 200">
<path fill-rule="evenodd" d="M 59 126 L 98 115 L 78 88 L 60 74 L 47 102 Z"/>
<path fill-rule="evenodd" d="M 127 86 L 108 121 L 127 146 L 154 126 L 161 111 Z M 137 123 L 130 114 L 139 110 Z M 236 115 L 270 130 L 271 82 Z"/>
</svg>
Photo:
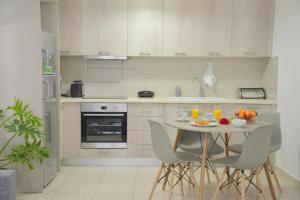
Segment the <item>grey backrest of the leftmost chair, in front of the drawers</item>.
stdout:
<svg viewBox="0 0 300 200">
<path fill-rule="evenodd" d="M 151 128 L 152 147 L 155 155 L 162 162 L 173 162 L 178 160 L 173 152 L 172 145 L 164 127 L 152 120 L 148 120 Z"/>
</svg>

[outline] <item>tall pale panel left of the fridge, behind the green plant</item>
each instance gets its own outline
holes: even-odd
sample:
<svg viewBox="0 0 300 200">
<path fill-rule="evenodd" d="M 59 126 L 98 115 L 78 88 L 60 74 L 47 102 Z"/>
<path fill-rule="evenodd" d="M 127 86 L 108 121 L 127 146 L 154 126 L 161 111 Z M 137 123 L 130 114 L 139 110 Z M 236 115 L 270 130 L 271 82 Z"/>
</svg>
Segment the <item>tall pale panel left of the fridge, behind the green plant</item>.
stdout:
<svg viewBox="0 0 300 200">
<path fill-rule="evenodd" d="M 40 1 L 0 0 L 0 107 L 17 97 L 42 116 L 41 63 Z M 42 166 L 18 171 L 18 184 L 22 191 L 42 191 Z"/>
</svg>

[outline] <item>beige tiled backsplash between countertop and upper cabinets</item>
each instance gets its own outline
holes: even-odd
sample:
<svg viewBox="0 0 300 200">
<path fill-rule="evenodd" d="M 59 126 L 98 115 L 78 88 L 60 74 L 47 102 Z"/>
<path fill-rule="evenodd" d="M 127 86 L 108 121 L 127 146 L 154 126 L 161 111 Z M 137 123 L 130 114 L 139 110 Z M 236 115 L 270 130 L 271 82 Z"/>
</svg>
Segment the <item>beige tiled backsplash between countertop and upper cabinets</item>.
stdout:
<svg viewBox="0 0 300 200">
<path fill-rule="evenodd" d="M 235 97 L 238 87 L 265 87 L 269 97 L 277 93 L 277 62 L 267 58 L 129 58 L 86 60 L 61 57 L 62 92 L 73 80 L 83 80 L 86 96 L 129 96 L 152 90 L 156 96 L 175 96 L 180 85 L 182 96 L 198 96 L 200 78 L 208 62 L 213 63 L 217 84 L 206 88 L 206 96 Z"/>
</svg>

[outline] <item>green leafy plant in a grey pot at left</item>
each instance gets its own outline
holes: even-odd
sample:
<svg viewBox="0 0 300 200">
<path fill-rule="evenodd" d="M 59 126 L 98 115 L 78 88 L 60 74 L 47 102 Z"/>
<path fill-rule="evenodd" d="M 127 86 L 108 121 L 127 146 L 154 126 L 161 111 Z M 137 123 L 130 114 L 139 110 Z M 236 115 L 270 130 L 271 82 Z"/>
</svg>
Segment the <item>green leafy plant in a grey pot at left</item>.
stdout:
<svg viewBox="0 0 300 200">
<path fill-rule="evenodd" d="M 16 173 L 6 167 L 23 164 L 33 170 L 34 161 L 43 163 L 49 157 L 49 150 L 43 146 L 42 127 L 42 119 L 35 116 L 20 99 L 15 99 L 12 106 L 0 109 L 1 200 L 15 199 L 16 193 Z M 4 137 L 8 139 L 3 141 Z M 15 140 L 18 140 L 17 143 Z"/>
</svg>

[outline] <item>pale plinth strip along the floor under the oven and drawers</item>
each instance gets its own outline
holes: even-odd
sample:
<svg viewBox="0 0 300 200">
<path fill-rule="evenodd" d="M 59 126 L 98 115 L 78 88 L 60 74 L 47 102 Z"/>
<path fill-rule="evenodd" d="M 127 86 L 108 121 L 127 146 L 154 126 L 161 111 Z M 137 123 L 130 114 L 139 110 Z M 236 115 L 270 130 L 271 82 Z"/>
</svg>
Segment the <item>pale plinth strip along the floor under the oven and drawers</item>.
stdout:
<svg viewBox="0 0 300 200">
<path fill-rule="evenodd" d="M 159 166 L 161 161 L 144 158 L 64 158 L 63 166 Z"/>
</svg>

